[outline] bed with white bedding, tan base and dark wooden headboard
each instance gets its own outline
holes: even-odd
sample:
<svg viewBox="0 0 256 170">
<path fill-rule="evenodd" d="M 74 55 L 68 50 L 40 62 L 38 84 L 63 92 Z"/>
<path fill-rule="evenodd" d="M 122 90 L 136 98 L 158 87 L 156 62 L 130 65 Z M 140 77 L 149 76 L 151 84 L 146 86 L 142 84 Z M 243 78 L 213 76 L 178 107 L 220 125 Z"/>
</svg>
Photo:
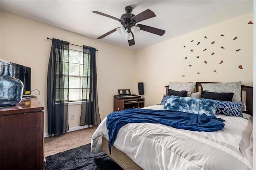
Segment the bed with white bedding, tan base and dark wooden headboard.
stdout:
<svg viewBox="0 0 256 170">
<path fill-rule="evenodd" d="M 197 82 L 194 92 L 203 91 Z M 198 132 L 159 123 L 129 123 L 108 145 L 106 118 L 92 136 L 91 150 L 103 150 L 124 169 L 252 169 L 252 87 L 241 85 L 246 103 L 243 117 L 216 115 L 225 127 L 214 132 Z M 169 86 L 166 86 L 168 95 Z M 142 109 L 163 110 L 164 105 Z"/>
</svg>

